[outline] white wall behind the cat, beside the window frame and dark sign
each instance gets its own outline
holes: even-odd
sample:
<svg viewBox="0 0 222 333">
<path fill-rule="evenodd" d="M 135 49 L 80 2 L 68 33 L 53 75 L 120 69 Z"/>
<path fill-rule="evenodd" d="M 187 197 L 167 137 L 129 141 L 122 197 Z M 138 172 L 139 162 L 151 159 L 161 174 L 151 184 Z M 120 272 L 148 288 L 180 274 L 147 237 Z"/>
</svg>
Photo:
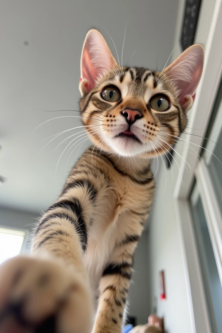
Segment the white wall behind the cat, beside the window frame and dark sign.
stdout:
<svg viewBox="0 0 222 333">
<path fill-rule="evenodd" d="M 214 5 L 215 0 L 202 1 L 195 42 L 206 44 Z M 183 10 L 184 0 L 180 0 L 174 46 L 180 41 Z M 177 46 L 172 54 L 171 61 L 180 53 L 181 48 Z M 177 147 L 176 150 L 181 154 L 181 148 Z M 174 157 L 176 158 L 176 156 Z M 179 159 L 176 158 L 176 160 L 178 165 L 180 165 Z M 160 162 L 162 161 L 160 160 Z M 161 301 L 158 298 L 158 315 L 164 317 L 167 332 L 188 333 L 191 332 L 191 322 L 176 211 L 173 201 L 173 192 L 178 176 L 178 166 L 175 161 L 173 161 L 172 165 L 173 182 L 171 169 L 166 170 L 165 174 L 163 166 L 160 167 L 159 174 L 157 175 L 158 179 L 156 180 L 157 188 L 148 234 L 150 306 L 151 309 L 153 309 L 153 299 L 155 296 L 159 296 L 158 271 L 164 269 L 166 300 Z M 167 184 L 163 193 L 165 177 L 167 177 Z"/>
</svg>

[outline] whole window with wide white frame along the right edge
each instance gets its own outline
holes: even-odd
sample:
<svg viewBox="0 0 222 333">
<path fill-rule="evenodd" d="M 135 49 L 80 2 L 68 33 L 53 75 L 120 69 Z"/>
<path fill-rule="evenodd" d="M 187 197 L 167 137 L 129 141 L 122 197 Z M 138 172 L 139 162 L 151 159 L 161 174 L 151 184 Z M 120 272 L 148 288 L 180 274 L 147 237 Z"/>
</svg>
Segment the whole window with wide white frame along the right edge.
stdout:
<svg viewBox="0 0 222 333">
<path fill-rule="evenodd" d="M 221 29 L 222 2 L 216 1 L 202 83 L 185 139 L 181 139 L 188 147 L 182 158 L 191 171 L 188 174 L 181 163 L 174 191 L 192 333 L 220 333 L 222 327 Z M 197 159 L 191 151 L 197 152 Z"/>
</svg>

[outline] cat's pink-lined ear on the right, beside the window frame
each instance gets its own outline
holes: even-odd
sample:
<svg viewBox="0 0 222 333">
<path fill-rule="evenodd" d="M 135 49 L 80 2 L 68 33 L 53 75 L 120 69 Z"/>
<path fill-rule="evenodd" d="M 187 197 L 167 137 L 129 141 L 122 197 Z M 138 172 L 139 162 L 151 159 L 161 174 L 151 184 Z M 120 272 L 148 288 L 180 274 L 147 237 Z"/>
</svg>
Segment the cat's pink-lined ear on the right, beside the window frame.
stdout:
<svg viewBox="0 0 222 333">
<path fill-rule="evenodd" d="M 204 48 L 201 44 L 195 44 L 186 49 L 163 71 L 167 80 L 172 80 L 171 83 L 178 92 L 178 99 L 184 112 L 193 105 L 203 63 Z"/>
</svg>

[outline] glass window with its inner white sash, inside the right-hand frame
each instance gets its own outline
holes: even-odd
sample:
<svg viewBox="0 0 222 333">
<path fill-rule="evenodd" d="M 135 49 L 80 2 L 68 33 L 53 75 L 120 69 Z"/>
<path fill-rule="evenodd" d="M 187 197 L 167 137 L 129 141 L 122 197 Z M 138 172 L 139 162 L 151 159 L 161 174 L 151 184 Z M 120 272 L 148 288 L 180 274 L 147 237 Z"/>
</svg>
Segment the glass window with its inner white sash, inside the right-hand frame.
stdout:
<svg viewBox="0 0 222 333">
<path fill-rule="evenodd" d="M 208 316 L 213 333 L 222 327 L 222 80 L 190 196 Z M 197 182 L 196 182 L 197 181 Z"/>
</svg>

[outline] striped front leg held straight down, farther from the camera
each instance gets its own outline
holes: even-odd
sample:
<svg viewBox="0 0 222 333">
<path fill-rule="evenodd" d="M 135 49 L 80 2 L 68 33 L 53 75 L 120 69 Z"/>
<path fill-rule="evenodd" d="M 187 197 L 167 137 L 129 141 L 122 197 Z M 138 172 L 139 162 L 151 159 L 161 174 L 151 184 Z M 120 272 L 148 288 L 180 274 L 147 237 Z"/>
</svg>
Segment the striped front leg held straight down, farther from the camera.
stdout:
<svg viewBox="0 0 222 333">
<path fill-rule="evenodd" d="M 100 298 L 93 333 L 120 333 L 138 237 L 116 246 L 100 282 Z"/>
</svg>

